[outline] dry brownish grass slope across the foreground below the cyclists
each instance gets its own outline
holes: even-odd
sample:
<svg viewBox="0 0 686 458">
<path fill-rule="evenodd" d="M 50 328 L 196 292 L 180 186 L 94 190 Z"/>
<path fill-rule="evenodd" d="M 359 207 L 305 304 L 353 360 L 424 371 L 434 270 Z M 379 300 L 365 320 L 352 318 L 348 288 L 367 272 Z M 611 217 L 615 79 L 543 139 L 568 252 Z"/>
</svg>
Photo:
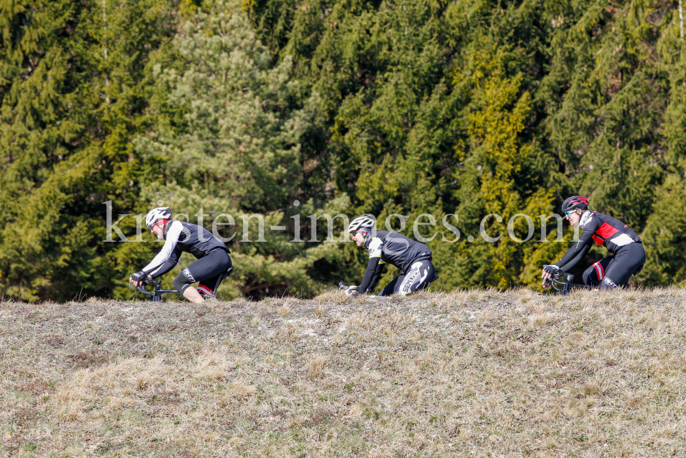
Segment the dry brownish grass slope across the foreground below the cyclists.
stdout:
<svg viewBox="0 0 686 458">
<path fill-rule="evenodd" d="M 686 456 L 686 290 L 0 304 L 1 457 Z"/>
</svg>

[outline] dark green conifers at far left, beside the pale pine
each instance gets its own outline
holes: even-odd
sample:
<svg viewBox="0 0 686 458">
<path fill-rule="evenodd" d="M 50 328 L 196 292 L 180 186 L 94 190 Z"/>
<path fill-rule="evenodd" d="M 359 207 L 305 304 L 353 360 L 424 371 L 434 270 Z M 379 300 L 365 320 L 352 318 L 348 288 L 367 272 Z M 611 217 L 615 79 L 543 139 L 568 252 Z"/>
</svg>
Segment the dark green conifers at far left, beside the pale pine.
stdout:
<svg viewBox="0 0 686 458">
<path fill-rule="evenodd" d="M 103 10 L 103 5 L 105 10 Z M 0 8 L 0 285 L 21 299 L 111 293 L 104 205 L 138 198 L 150 52 L 169 2 L 19 1 Z"/>
</svg>

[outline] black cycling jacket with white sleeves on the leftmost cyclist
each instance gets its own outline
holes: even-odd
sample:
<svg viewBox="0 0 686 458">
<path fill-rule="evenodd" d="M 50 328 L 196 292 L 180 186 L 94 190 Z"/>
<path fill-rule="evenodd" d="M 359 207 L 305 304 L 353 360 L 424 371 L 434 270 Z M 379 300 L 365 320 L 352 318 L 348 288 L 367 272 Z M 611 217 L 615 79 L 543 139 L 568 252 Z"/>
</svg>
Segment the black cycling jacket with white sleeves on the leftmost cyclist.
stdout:
<svg viewBox="0 0 686 458">
<path fill-rule="evenodd" d="M 230 253 L 226 244 L 213 234 L 198 225 L 185 221 L 169 221 L 164 229 L 165 244 L 154 259 L 143 267 L 145 275 L 153 278 L 165 275 L 178 263 L 182 251 L 191 253 L 197 259 L 206 256 L 210 251 L 222 249 Z"/>
</svg>

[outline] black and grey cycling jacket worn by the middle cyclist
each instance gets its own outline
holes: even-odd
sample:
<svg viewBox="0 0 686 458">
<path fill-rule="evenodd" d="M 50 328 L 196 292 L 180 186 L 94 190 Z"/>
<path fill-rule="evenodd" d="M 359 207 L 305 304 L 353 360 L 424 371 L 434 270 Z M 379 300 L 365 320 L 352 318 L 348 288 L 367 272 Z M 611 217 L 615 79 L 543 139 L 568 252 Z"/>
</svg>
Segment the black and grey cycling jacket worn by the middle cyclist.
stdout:
<svg viewBox="0 0 686 458">
<path fill-rule="evenodd" d="M 431 259 L 429 247 L 397 232 L 372 231 L 365 240 L 364 247 L 369 251 L 369 262 L 359 286 L 360 293 L 374 289 L 386 262 L 401 269 L 405 274 L 415 262 Z"/>
</svg>

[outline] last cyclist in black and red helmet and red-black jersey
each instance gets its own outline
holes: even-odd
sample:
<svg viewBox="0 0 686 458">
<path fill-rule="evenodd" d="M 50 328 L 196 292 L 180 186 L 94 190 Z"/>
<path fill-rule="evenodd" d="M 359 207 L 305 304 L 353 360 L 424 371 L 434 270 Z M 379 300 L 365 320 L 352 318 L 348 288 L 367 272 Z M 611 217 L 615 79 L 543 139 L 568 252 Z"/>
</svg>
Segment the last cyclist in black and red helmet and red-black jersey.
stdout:
<svg viewBox="0 0 686 458">
<path fill-rule="evenodd" d="M 639 273 L 646 263 L 646 251 L 637 234 L 624 222 L 589 209 L 589 200 L 571 196 L 562 204 L 570 225 L 579 225 L 583 232 L 579 241 L 555 264 L 543 268 L 543 279 L 549 279 L 558 269 L 568 272 L 591 249 L 593 242 L 612 253 L 584 272 L 584 284 L 593 288 L 624 288 L 629 278 Z"/>
</svg>

